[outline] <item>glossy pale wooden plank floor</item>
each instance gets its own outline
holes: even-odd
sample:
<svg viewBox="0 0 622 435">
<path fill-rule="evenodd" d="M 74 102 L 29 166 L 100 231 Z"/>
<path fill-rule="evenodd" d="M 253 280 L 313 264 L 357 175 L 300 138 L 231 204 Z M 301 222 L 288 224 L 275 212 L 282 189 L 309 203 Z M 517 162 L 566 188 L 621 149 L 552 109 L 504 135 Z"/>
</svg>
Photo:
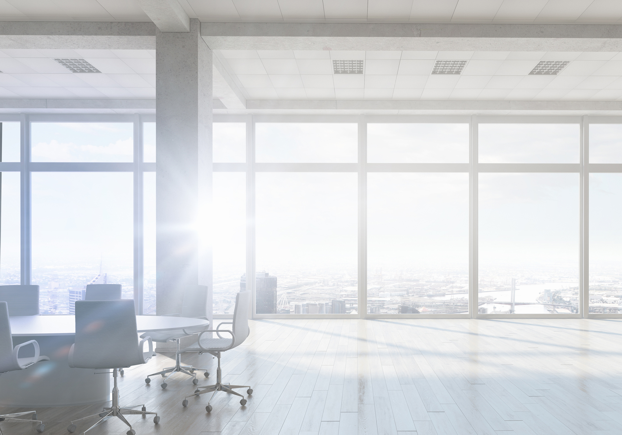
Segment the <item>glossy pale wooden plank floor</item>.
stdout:
<svg viewBox="0 0 622 435">
<path fill-rule="evenodd" d="M 144 383 L 170 356 L 121 378 L 122 405 L 144 401 L 162 416 L 128 416 L 138 435 L 622 434 L 622 319 L 253 321 L 243 346 L 223 354 L 223 380 L 254 393 L 246 406 L 216 393 L 211 413 L 207 394 L 182 407 L 195 389 L 183 375 L 165 391 L 161 378 Z M 68 421 L 100 409 L 40 408 L 39 418 L 45 433 L 68 434 Z M 34 426 L 0 423 L 11 435 Z M 110 419 L 88 434 L 126 431 Z"/>
</svg>

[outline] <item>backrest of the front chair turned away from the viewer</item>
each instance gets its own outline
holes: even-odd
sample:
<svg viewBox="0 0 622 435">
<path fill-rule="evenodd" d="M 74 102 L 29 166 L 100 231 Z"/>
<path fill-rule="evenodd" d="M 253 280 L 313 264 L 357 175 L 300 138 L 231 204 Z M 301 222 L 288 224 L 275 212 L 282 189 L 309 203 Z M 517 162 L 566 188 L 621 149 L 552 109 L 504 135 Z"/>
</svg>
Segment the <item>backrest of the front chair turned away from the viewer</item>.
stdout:
<svg viewBox="0 0 622 435">
<path fill-rule="evenodd" d="M 134 300 L 76 301 L 72 367 L 114 369 L 143 363 Z"/>
</svg>

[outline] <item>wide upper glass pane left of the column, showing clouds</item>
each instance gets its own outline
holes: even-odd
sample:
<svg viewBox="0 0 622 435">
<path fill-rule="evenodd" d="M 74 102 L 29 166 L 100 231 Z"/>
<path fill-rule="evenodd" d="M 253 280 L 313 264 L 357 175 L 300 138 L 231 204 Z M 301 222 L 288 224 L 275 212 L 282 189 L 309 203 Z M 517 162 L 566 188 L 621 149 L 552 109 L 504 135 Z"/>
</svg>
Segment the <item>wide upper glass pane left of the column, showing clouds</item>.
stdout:
<svg viewBox="0 0 622 435">
<path fill-rule="evenodd" d="M 33 122 L 33 162 L 132 162 L 132 122 Z"/>
</svg>

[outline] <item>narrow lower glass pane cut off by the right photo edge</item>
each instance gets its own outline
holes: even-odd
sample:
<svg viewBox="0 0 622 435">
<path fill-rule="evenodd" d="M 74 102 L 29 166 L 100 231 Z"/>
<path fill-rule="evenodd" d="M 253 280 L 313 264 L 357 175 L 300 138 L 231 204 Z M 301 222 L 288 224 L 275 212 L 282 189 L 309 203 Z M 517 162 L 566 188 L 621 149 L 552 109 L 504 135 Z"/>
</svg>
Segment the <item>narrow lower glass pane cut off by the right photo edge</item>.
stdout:
<svg viewBox="0 0 622 435">
<path fill-rule="evenodd" d="M 622 313 L 620 216 L 622 173 L 590 174 L 590 313 Z"/>
</svg>

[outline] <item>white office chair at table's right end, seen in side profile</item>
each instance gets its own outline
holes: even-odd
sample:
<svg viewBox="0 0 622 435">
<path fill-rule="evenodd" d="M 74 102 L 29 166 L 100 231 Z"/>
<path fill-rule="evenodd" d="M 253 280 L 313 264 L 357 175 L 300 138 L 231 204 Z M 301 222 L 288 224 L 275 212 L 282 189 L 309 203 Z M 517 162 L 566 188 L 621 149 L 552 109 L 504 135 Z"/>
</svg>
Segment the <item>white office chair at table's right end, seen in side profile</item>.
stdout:
<svg viewBox="0 0 622 435">
<path fill-rule="evenodd" d="M 186 396 L 182 405 L 188 405 L 188 397 L 198 396 L 205 393 L 213 392 L 210 397 L 210 402 L 214 398 L 216 392 L 226 392 L 229 394 L 234 394 L 236 396 L 240 396 L 242 399 L 239 401 L 240 405 L 246 405 L 246 399 L 240 393 L 234 392 L 233 388 L 248 388 L 246 393 L 248 395 L 253 394 L 253 389 L 249 385 L 230 385 L 228 383 L 223 384 L 220 372 L 220 352 L 225 352 L 225 350 L 233 349 L 234 347 L 238 347 L 240 344 L 246 340 L 248 337 L 249 329 L 248 329 L 248 313 L 249 306 L 251 305 L 251 292 L 250 291 L 240 291 L 238 295 L 235 297 L 235 308 L 233 311 L 233 322 L 223 322 L 216 329 L 208 329 L 208 331 L 203 331 L 198 336 L 198 340 L 195 344 L 190 347 L 186 347 L 185 349 L 180 350 L 180 352 L 198 352 L 199 355 L 203 352 L 207 352 L 208 354 L 214 355 L 218 358 L 218 369 L 216 369 L 216 383 L 214 385 L 209 385 L 208 387 L 198 387 L 195 390 L 193 395 Z M 233 325 L 233 331 L 227 329 L 220 329 L 221 325 Z M 205 332 L 216 332 L 216 335 L 219 338 L 202 338 Z M 231 334 L 231 338 L 223 338 L 220 336 L 220 332 L 228 332 Z M 211 411 L 210 402 L 205 406 L 205 411 Z"/>
</svg>

